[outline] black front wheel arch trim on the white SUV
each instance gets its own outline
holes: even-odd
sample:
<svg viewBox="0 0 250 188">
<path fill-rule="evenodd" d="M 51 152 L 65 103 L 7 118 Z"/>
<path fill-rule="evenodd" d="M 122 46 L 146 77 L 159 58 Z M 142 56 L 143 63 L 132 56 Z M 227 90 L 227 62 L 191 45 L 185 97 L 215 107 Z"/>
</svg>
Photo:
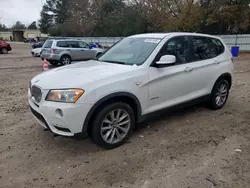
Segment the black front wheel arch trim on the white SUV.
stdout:
<svg viewBox="0 0 250 188">
<path fill-rule="evenodd" d="M 141 104 L 139 99 L 129 93 L 129 92 L 117 92 L 117 93 L 112 93 L 110 95 L 107 95 L 97 101 L 94 106 L 90 109 L 88 112 L 84 124 L 83 124 L 83 132 L 89 133 L 91 130 L 91 123 L 93 121 L 94 114 L 97 113 L 102 107 L 105 105 L 112 103 L 112 102 L 124 102 L 129 104 L 129 106 L 132 108 L 132 110 L 135 113 L 135 118 L 136 121 L 139 121 L 141 118 Z"/>
</svg>

